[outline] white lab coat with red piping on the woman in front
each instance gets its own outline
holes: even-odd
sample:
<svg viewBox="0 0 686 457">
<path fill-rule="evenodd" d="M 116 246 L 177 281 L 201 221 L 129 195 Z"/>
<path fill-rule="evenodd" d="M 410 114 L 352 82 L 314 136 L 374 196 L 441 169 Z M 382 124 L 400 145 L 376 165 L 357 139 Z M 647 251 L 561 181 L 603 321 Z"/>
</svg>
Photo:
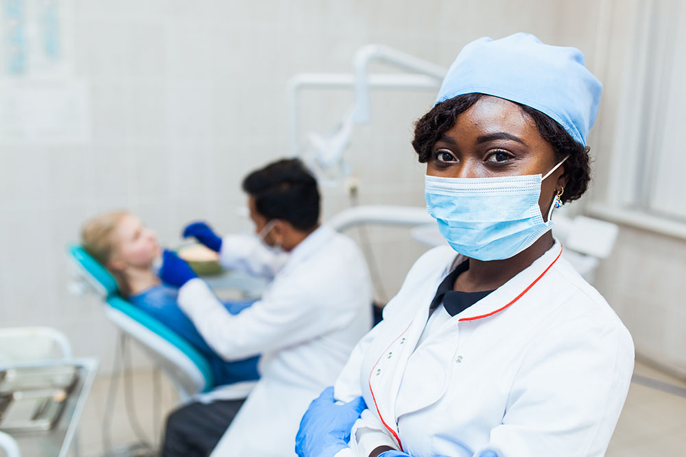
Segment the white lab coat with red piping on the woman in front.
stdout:
<svg viewBox="0 0 686 457">
<path fill-rule="evenodd" d="M 397 438 L 414 457 L 604 455 L 633 343 L 561 251 L 556 243 L 417 347 L 438 284 L 464 260 L 448 247 L 422 256 L 335 384 L 337 399 L 363 395 L 368 408 L 336 457 L 401 449 Z"/>
</svg>

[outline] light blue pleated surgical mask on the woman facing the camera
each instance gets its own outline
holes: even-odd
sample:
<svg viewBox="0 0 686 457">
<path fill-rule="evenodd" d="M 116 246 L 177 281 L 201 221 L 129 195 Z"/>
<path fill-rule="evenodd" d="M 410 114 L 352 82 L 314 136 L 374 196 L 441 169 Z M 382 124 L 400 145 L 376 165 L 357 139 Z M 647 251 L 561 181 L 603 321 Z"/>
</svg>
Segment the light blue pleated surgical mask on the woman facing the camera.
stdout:
<svg viewBox="0 0 686 457">
<path fill-rule="evenodd" d="M 427 210 L 438 230 L 460 254 L 477 260 L 502 260 L 530 247 L 553 226 L 550 206 L 543 221 L 541 175 L 504 177 L 425 177 Z"/>
</svg>

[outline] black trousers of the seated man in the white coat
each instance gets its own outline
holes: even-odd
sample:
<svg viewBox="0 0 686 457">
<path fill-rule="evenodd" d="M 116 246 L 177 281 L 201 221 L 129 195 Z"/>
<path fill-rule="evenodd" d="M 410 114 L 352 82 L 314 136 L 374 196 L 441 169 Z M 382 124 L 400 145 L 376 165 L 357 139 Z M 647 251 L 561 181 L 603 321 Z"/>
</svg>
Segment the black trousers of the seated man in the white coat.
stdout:
<svg viewBox="0 0 686 457">
<path fill-rule="evenodd" d="M 245 399 L 191 403 L 167 416 L 162 457 L 207 457 Z"/>
</svg>

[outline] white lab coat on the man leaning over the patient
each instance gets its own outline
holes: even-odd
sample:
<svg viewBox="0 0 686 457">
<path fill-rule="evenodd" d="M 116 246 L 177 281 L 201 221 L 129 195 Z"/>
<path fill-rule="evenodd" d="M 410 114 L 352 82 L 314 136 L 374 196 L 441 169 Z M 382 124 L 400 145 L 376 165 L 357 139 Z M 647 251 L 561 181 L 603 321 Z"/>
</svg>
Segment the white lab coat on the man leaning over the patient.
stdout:
<svg viewBox="0 0 686 457">
<path fill-rule="evenodd" d="M 179 291 L 179 306 L 217 354 L 226 360 L 262 354 L 261 378 L 212 455 L 295 455 L 309 402 L 333 384 L 371 328 L 364 256 L 353 240 L 322 225 L 285 257 L 255 236 L 227 236 L 221 261 L 273 281 L 259 301 L 235 316 L 202 280 Z"/>
</svg>

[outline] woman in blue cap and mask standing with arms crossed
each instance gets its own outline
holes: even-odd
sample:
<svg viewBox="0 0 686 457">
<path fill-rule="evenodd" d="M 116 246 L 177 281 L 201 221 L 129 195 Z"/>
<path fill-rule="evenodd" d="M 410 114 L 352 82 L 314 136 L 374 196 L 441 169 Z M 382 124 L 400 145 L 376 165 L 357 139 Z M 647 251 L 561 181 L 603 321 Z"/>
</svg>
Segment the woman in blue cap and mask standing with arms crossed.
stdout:
<svg viewBox="0 0 686 457">
<path fill-rule="evenodd" d="M 412 142 L 452 249 L 414 264 L 312 402 L 301 457 L 604 454 L 633 345 L 549 231 L 589 183 L 601 90 L 577 49 L 528 34 L 464 47 Z"/>
</svg>

